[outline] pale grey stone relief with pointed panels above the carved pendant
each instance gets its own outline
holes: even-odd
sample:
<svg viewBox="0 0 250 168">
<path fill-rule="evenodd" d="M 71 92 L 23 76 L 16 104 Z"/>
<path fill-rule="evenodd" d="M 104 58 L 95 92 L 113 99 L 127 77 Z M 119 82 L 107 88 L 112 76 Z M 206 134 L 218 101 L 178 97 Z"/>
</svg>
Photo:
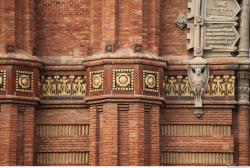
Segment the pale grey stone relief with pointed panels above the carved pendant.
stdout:
<svg viewBox="0 0 250 168">
<path fill-rule="evenodd" d="M 188 7 L 187 48 L 193 49 L 194 56 L 230 55 L 238 49 L 241 7 L 237 0 L 190 0 Z"/>
</svg>

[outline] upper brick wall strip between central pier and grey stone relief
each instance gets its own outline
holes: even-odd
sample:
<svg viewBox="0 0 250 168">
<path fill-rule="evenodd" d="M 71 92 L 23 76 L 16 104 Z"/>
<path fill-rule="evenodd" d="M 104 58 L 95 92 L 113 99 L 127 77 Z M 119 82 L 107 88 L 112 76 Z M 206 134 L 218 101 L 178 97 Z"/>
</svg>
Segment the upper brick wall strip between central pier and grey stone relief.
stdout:
<svg viewBox="0 0 250 168">
<path fill-rule="evenodd" d="M 186 31 L 176 27 L 175 21 L 188 12 L 187 0 L 161 1 L 160 9 L 160 55 L 185 56 Z"/>
</svg>

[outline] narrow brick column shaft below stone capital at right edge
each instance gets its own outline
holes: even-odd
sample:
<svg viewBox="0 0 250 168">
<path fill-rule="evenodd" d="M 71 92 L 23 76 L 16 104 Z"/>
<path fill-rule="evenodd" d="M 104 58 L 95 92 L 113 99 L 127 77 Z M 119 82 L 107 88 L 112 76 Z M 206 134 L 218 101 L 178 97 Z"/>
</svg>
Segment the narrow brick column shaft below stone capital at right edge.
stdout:
<svg viewBox="0 0 250 168">
<path fill-rule="evenodd" d="M 249 109 L 239 108 L 239 165 L 249 165 Z"/>
</svg>

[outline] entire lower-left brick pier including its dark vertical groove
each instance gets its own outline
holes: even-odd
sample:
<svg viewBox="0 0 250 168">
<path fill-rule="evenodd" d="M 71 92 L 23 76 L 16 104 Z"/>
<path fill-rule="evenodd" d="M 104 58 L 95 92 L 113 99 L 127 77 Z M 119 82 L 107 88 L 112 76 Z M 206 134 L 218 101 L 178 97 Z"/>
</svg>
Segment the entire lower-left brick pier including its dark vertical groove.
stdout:
<svg viewBox="0 0 250 168">
<path fill-rule="evenodd" d="M 34 107 L 2 104 L 0 165 L 33 165 Z"/>
</svg>

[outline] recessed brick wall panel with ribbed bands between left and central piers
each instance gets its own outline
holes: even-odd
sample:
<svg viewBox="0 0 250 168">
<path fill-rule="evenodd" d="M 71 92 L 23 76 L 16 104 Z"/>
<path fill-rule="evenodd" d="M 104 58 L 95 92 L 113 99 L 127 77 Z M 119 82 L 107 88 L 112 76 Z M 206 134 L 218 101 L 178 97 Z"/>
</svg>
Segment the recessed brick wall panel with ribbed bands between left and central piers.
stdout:
<svg viewBox="0 0 250 168">
<path fill-rule="evenodd" d="M 36 116 L 36 125 L 36 165 L 88 164 L 82 158 L 85 154 L 75 160 L 68 158 L 68 161 L 60 160 L 56 156 L 76 155 L 75 157 L 78 157 L 77 153 L 86 152 L 88 160 L 89 112 L 87 109 L 40 109 Z M 53 157 L 53 159 L 45 161 L 43 159 L 45 157 Z"/>
</svg>

